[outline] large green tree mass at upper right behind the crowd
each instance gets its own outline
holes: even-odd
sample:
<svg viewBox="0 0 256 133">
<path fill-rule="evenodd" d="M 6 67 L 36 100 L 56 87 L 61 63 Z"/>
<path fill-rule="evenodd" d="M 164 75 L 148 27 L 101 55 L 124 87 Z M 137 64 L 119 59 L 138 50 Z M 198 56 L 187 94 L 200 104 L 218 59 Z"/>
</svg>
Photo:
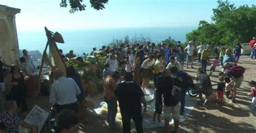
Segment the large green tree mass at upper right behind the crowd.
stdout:
<svg viewBox="0 0 256 133">
<path fill-rule="evenodd" d="M 256 34 L 256 6 L 242 5 L 238 8 L 228 1 L 218 0 L 213 9 L 212 21 L 201 20 L 199 27 L 186 35 L 187 41 L 220 42 L 232 46 L 246 43 Z"/>
</svg>

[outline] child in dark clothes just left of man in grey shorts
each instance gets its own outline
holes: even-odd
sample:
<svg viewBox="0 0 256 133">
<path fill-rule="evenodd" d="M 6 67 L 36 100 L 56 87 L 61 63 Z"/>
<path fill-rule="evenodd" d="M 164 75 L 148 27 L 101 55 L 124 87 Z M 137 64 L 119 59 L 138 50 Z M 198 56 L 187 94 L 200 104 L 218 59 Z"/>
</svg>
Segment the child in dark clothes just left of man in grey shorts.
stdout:
<svg viewBox="0 0 256 133">
<path fill-rule="evenodd" d="M 158 93 L 159 93 L 157 88 L 155 89 L 155 93 L 156 93 L 156 95 L 158 95 Z M 160 98 L 156 98 L 156 102 L 154 104 L 155 112 L 154 112 L 154 117 L 153 117 L 153 123 L 156 122 L 156 117 L 158 118 L 158 123 L 161 122 L 161 114 L 163 111 L 163 105 L 159 104 L 159 100 L 160 100 Z"/>
</svg>

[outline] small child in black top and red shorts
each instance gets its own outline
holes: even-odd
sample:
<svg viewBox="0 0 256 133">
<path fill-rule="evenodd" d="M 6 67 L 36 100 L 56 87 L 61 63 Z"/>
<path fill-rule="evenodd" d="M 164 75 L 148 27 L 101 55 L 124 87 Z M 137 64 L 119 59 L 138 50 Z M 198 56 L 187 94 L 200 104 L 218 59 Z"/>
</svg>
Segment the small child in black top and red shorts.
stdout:
<svg viewBox="0 0 256 133">
<path fill-rule="evenodd" d="M 216 92 L 216 98 L 217 98 L 217 104 L 223 104 L 224 103 L 224 91 L 225 91 L 225 82 L 224 77 L 219 77 L 219 83 L 217 87 Z"/>
</svg>

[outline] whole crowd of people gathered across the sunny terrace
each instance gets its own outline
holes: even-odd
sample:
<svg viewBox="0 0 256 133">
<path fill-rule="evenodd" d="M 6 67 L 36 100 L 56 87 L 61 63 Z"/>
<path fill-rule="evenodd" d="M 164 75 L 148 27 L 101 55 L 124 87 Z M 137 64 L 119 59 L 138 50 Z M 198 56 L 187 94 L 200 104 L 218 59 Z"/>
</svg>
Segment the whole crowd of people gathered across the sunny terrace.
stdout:
<svg viewBox="0 0 256 133">
<path fill-rule="evenodd" d="M 219 43 L 213 48 L 214 58 L 210 62 L 211 42 L 204 45 L 203 42 L 196 46 L 193 41 L 189 41 L 185 47 L 178 41 L 177 44 L 165 45 L 160 43 L 147 42 L 145 45 L 125 45 L 103 46 L 97 51 L 93 48 L 91 56 L 96 56 L 100 52 L 105 53 L 107 58 L 104 64 L 104 100 L 107 104 L 107 122 L 109 127 L 119 129 L 116 123 L 117 101 L 122 115 L 123 132 L 130 132 L 130 120 L 133 119 L 137 132 L 143 132 L 142 111 L 146 112 L 147 102 L 143 90 L 148 89 L 152 80 L 155 86 L 155 109 L 153 121 L 161 122 L 161 113 L 164 112 L 165 132 L 170 132 L 169 121 L 174 120 L 173 132 L 178 131 L 179 117 L 185 113 L 185 97 L 189 87 L 196 87 L 191 76 L 183 67 L 194 69 L 194 58 L 198 56 L 201 67 L 195 76 L 199 84 L 198 92 L 201 104 L 207 106 L 208 98 L 213 93 L 210 75 L 219 65 L 223 71 L 219 73 L 217 84 L 217 103 L 224 102 L 224 97 L 235 102 L 237 88 L 241 86 L 244 79 L 245 69 L 237 65 L 241 55 L 242 46 L 238 43 L 232 50 L 220 46 Z M 256 39 L 250 42 L 252 50 L 251 58 L 255 58 Z M 60 57 L 64 61 L 76 57 L 73 50 L 69 54 L 63 55 L 60 49 Z M 38 130 L 37 125 L 28 124 L 22 121 L 16 113 L 17 106 L 22 107 L 22 112 L 28 111 L 26 98 L 31 97 L 35 90 L 35 65 L 31 62 L 31 57 L 26 50 L 19 59 L 20 64 L 8 65 L 0 60 L 0 83 L 7 80 L 6 88 L 10 88 L 10 93 L 6 95 L 4 109 L 0 110 L 0 124 L 8 132 L 17 132 L 18 124 L 22 127 Z M 79 59 L 80 60 L 80 59 Z M 83 59 L 82 59 L 83 60 Z M 184 62 L 186 61 L 186 64 Z M 207 65 L 211 63 L 210 72 L 207 72 Z M 5 69 L 3 69 L 5 67 Z M 10 68 L 10 71 L 8 69 Z M 66 75 L 66 77 L 64 77 Z M 56 104 L 60 131 L 74 132 L 78 129 L 78 117 L 85 120 L 86 110 L 84 109 L 84 91 L 82 88 L 82 78 L 72 66 L 66 67 L 66 73 L 56 69 L 53 71 L 55 83 L 50 88 L 50 103 Z M 192 81 L 192 82 L 191 82 Z M 3 85 L 2 85 L 3 86 Z M 252 102 L 256 99 L 255 82 L 250 82 Z M 3 88 L 2 88 L 3 90 Z M 202 95 L 205 95 L 205 100 Z M 143 106 L 142 106 L 143 104 Z M 1 109 L 1 108 L 0 108 Z M 70 113 L 73 112 L 73 113 Z M 172 114 L 172 115 L 170 115 Z M 172 116 L 172 117 L 170 117 Z M 63 119 L 66 117 L 67 119 Z M 70 120 L 68 122 L 67 120 Z M 63 124 L 65 121 L 68 124 Z"/>
</svg>

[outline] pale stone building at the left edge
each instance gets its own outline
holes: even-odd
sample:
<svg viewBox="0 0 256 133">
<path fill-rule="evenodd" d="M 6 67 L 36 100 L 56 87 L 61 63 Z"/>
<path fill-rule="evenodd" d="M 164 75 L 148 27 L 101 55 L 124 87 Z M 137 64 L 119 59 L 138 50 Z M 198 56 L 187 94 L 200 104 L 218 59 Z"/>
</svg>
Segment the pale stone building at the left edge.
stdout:
<svg viewBox="0 0 256 133">
<path fill-rule="evenodd" d="M 0 57 L 6 64 L 18 64 L 19 46 L 15 15 L 21 9 L 0 5 Z"/>
</svg>

